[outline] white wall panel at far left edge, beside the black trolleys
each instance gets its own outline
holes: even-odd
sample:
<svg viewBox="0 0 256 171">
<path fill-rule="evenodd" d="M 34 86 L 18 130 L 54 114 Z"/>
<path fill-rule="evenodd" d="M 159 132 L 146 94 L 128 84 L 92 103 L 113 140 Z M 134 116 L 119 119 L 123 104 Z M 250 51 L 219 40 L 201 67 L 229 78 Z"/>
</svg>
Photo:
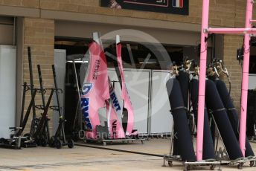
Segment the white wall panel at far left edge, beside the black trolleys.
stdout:
<svg viewBox="0 0 256 171">
<path fill-rule="evenodd" d="M 0 46 L 0 138 L 16 126 L 16 47 Z"/>
</svg>

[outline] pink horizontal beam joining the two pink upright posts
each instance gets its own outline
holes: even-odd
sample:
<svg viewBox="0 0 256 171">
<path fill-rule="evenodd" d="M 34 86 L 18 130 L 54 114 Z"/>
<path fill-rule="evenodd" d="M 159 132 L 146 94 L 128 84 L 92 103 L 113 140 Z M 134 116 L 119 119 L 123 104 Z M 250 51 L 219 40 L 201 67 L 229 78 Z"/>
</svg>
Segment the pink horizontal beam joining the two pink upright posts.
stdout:
<svg viewBox="0 0 256 171">
<path fill-rule="evenodd" d="M 256 33 L 256 28 L 208 28 L 207 32 L 219 34 L 246 34 Z"/>
</svg>

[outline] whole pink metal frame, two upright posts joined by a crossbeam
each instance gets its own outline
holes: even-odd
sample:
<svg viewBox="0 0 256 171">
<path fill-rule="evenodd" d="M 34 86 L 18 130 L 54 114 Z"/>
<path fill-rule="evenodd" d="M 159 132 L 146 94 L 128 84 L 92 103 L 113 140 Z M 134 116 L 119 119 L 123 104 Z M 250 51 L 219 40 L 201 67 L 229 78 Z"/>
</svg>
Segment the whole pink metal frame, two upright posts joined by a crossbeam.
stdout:
<svg viewBox="0 0 256 171">
<path fill-rule="evenodd" d="M 244 57 L 243 57 L 243 80 L 241 92 L 241 112 L 240 112 L 240 149 L 245 155 L 246 146 L 246 112 L 247 112 L 247 95 L 249 82 L 249 57 L 250 57 L 250 33 L 256 33 L 252 28 L 252 7 L 254 1 L 247 0 L 246 5 L 246 26 L 245 28 L 208 28 L 209 0 L 202 0 L 202 30 L 201 30 L 201 56 L 200 56 L 200 73 L 199 73 L 199 100 L 198 100 L 198 122 L 197 122 L 197 142 L 196 142 L 196 159 L 202 161 L 202 144 L 203 144 L 203 123 L 205 110 L 205 73 L 207 59 L 207 41 L 208 33 L 230 33 L 244 34 Z"/>
</svg>

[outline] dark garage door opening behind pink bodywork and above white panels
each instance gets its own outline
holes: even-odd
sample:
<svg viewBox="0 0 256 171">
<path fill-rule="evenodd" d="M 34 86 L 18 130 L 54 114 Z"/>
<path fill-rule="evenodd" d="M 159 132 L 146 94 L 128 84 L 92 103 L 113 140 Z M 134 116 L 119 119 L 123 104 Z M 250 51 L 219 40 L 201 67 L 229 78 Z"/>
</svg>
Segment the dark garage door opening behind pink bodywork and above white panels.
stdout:
<svg viewBox="0 0 256 171">
<path fill-rule="evenodd" d="M 73 129 L 77 127 L 80 129 L 81 124 L 78 122 L 74 125 L 75 116 L 80 112 L 79 97 L 77 93 L 77 83 L 74 74 L 74 64 L 77 72 L 78 86 L 81 87 L 83 84 L 84 71 L 80 75 L 81 65 L 88 65 L 88 45 L 92 42 L 92 39 L 74 39 L 65 37 L 56 37 L 55 39 L 55 49 L 65 50 L 65 123 L 66 134 L 71 135 L 74 131 Z M 106 54 L 106 61 L 108 68 L 114 68 L 113 60 L 115 59 L 115 42 L 113 41 L 103 41 L 103 47 Z M 197 57 L 198 47 L 188 46 L 188 45 L 163 45 L 164 51 L 167 52 L 167 57 L 160 57 L 159 45 L 150 45 L 139 42 L 122 42 L 122 58 L 124 63 L 124 69 L 129 70 L 144 70 L 144 71 L 170 71 L 170 65 L 174 61 L 177 65 L 181 65 L 184 57 L 189 57 L 190 59 L 199 59 Z M 211 49 L 210 49 L 211 50 Z M 161 53 L 161 52 L 160 52 Z M 211 53 L 211 51 L 210 51 Z M 68 59 L 71 55 L 75 54 L 87 54 L 86 61 L 77 60 L 74 64 Z M 128 72 L 128 71 L 127 71 Z M 82 77 L 82 79 L 81 79 Z M 151 86 L 149 79 L 148 86 Z M 148 88 L 148 100 L 146 117 L 150 116 L 150 87 Z M 148 118 L 147 118 L 148 120 Z M 150 120 L 148 120 L 145 125 L 144 133 L 150 133 L 149 125 Z M 146 130 L 147 129 L 147 130 Z M 170 130 L 168 130 L 170 132 Z"/>
</svg>

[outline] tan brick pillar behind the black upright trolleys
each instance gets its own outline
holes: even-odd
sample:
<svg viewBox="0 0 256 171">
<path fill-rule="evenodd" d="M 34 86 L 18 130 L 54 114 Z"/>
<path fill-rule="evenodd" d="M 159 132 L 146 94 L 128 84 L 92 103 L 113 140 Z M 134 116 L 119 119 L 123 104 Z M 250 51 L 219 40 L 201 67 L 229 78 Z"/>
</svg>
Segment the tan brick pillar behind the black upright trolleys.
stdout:
<svg viewBox="0 0 256 171">
<path fill-rule="evenodd" d="M 54 64 L 54 21 L 48 19 L 25 18 L 24 21 L 24 62 L 23 73 L 24 81 L 30 83 L 28 68 L 28 46 L 31 46 L 31 55 L 33 62 L 33 80 L 36 88 L 39 88 L 39 78 L 36 65 L 41 65 L 42 80 L 45 88 L 52 88 L 54 85 L 51 65 Z M 28 92 L 30 94 L 30 92 Z M 45 101 L 48 100 L 50 91 L 45 95 Z M 41 94 L 36 96 L 36 104 L 42 104 Z M 28 97 L 27 100 L 30 100 Z M 26 101 L 28 106 L 29 101 Z M 46 102 L 45 102 L 46 103 Z M 27 109 L 27 108 L 25 108 Z M 39 117 L 37 110 L 37 116 Z M 52 111 L 49 110 L 49 117 L 52 117 Z M 32 112 L 31 112 L 32 116 Z M 30 129 L 31 122 L 28 122 L 27 129 Z M 52 122 L 50 121 L 50 127 Z"/>
</svg>

